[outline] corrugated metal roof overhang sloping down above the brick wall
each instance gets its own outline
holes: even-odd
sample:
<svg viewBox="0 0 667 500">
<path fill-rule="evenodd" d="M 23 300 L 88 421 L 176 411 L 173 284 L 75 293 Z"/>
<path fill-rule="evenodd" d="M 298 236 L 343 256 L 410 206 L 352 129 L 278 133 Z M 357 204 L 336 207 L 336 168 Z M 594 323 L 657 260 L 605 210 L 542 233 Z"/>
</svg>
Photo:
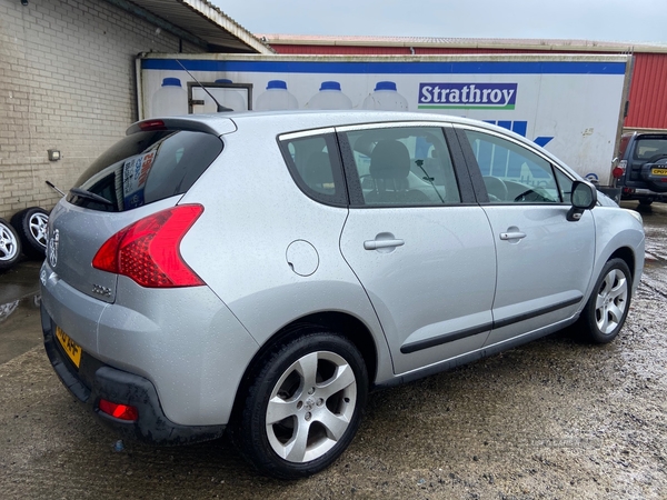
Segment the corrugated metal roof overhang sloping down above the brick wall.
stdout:
<svg viewBox="0 0 667 500">
<path fill-rule="evenodd" d="M 130 3 L 205 40 L 213 50 L 273 52 L 271 48 L 207 0 L 130 0 Z"/>
</svg>

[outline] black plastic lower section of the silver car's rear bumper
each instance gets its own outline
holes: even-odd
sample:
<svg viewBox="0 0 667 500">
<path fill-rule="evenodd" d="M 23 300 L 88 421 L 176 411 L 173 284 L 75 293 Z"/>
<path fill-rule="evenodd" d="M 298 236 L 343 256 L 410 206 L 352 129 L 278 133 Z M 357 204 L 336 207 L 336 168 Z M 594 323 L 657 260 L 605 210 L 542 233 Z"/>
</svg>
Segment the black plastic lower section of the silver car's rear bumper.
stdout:
<svg viewBox="0 0 667 500">
<path fill-rule="evenodd" d="M 118 370 L 88 354 L 81 354 L 79 368 L 69 360 L 54 336 L 54 323 L 41 307 L 44 349 L 60 381 L 100 420 L 125 438 L 151 444 L 187 444 L 217 439 L 226 426 L 180 426 L 162 411 L 155 386 L 146 378 Z M 139 418 L 128 422 L 103 413 L 100 399 L 137 408 Z"/>
</svg>

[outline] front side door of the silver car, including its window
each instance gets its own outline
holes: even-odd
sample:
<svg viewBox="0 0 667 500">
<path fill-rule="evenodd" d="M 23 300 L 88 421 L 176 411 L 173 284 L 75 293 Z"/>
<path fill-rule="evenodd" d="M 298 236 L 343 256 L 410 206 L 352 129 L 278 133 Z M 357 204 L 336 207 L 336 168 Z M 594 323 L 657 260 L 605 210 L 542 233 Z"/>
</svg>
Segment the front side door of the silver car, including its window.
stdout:
<svg viewBox="0 0 667 500">
<path fill-rule="evenodd" d="M 457 134 L 488 193 L 482 209 L 496 244 L 494 330 L 486 346 L 570 319 L 585 299 L 595 257 L 590 211 L 567 220 L 573 179 L 499 133 L 461 127 Z"/>
</svg>

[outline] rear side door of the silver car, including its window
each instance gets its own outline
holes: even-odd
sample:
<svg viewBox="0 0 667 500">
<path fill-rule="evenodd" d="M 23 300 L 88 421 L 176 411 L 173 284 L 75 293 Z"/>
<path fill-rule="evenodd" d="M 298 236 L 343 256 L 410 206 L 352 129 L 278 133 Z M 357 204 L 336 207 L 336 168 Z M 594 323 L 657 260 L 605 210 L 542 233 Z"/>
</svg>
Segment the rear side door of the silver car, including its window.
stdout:
<svg viewBox="0 0 667 500">
<path fill-rule="evenodd" d="M 395 371 L 481 348 L 491 328 L 495 248 L 451 128 L 337 132 L 350 193 L 340 248 L 378 314 Z"/>
</svg>

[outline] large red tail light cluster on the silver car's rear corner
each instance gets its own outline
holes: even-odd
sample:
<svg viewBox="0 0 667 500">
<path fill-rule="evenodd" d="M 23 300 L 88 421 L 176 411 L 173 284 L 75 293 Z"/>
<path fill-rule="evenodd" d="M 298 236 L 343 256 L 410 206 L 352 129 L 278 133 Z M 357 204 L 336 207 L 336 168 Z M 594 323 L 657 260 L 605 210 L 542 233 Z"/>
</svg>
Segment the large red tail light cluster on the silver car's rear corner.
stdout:
<svg viewBox="0 0 667 500">
<path fill-rule="evenodd" d="M 183 261 L 179 247 L 202 212 L 200 204 L 185 204 L 148 216 L 109 238 L 92 267 L 127 276 L 147 288 L 201 286 L 203 281 Z"/>
</svg>

